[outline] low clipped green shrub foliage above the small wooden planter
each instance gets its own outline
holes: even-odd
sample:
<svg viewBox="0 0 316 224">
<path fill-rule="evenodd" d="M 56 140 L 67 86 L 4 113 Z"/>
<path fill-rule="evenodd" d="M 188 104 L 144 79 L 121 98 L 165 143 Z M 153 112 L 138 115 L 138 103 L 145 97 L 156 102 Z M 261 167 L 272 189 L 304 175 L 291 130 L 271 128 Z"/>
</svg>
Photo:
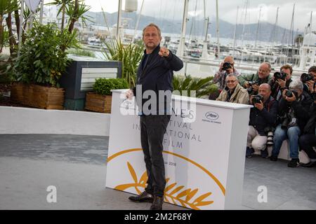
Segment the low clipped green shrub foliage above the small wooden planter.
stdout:
<svg viewBox="0 0 316 224">
<path fill-rule="evenodd" d="M 111 90 L 128 88 L 129 84 L 124 78 L 97 78 L 93 85 L 93 90 L 101 95 L 112 95 Z"/>
</svg>

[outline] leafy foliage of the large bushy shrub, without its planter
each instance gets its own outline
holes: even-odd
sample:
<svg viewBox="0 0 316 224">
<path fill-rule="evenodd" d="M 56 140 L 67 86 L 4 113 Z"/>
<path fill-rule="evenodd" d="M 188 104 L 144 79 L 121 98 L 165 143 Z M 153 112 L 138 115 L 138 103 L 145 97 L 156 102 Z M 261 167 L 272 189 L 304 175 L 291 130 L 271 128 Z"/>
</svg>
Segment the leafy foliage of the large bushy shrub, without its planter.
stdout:
<svg viewBox="0 0 316 224">
<path fill-rule="evenodd" d="M 13 61 L 14 80 L 59 87 L 58 80 L 70 62 L 63 49 L 78 47 L 76 37 L 76 33 L 61 32 L 55 24 L 34 23 L 20 57 Z"/>
</svg>

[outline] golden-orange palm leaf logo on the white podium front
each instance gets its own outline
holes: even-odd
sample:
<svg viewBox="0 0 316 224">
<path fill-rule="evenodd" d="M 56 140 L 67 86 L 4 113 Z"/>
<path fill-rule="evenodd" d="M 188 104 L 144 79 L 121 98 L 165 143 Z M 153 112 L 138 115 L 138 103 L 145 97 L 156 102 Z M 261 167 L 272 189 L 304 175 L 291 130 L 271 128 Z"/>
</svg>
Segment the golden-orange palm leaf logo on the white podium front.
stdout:
<svg viewBox="0 0 316 224">
<path fill-rule="evenodd" d="M 133 166 L 129 162 L 127 162 L 127 167 L 133 179 L 133 183 L 121 184 L 119 186 L 116 186 L 114 189 L 124 191 L 128 188 L 135 188 L 138 194 L 142 193 L 143 189 L 146 187 L 146 182 L 148 179 L 147 172 L 144 172 L 138 180 L 135 169 L 133 169 Z M 197 193 L 199 191 L 198 188 L 193 190 L 191 188 L 184 189 L 184 186 L 177 186 L 177 183 L 169 184 L 169 181 L 170 179 L 167 178 L 166 184 L 168 184 L 168 186 L 166 186 L 166 188 L 164 189 L 164 200 L 166 202 L 178 205 L 180 204 L 183 207 L 195 210 L 200 210 L 199 207 L 204 207 L 206 205 L 213 204 L 213 201 L 207 200 L 207 198 L 212 193 L 204 193 L 203 195 L 199 195 L 199 197 L 195 197 L 197 196 Z M 140 190 L 139 188 L 143 189 Z"/>
</svg>

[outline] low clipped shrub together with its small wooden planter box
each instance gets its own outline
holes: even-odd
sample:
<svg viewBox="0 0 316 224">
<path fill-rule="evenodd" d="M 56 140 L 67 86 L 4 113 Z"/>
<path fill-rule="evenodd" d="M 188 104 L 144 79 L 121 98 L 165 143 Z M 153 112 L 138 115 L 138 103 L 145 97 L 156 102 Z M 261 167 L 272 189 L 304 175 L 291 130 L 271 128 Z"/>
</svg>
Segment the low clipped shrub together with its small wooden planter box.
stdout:
<svg viewBox="0 0 316 224">
<path fill-rule="evenodd" d="M 129 88 L 124 78 L 97 78 L 93 85 L 94 92 L 86 94 L 86 110 L 101 113 L 111 113 L 112 92 Z"/>
</svg>

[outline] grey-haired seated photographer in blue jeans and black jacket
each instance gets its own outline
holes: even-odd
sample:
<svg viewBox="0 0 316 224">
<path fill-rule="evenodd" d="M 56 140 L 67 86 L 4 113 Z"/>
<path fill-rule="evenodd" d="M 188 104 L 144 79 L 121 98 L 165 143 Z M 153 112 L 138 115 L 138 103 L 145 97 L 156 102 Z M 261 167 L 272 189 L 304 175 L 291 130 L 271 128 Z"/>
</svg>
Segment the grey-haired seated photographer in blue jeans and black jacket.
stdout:
<svg viewBox="0 0 316 224">
<path fill-rule="evenodd" d="M 298 159 L 298 137 L 309 119 L 308 111 L 311 103 L 310 95 L 303 91 L 301 80 L 292 81 L 289 90 L 282 92 L 278 112 L 282 120 L 275 130 L 271 161 L 277 161 L 282 142 L 289 139 L 291 161 L 288 163 L 288 167 L 298 167 L 300 162 Z"/>
</svg>

